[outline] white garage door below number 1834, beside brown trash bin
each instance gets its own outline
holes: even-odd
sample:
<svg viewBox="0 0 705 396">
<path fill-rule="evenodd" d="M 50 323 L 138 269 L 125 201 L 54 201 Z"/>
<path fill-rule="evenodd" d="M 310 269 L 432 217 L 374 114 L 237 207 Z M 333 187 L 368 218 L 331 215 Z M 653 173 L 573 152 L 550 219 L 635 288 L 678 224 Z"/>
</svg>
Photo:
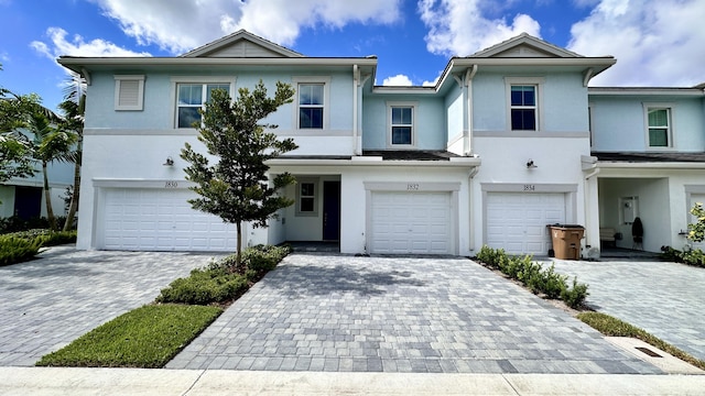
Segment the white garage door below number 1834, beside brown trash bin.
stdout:
<svg viewBox="0 0 705 396">
<path fill-rule="evenodd" d="M 546 224 L 565 223 L 564 194 L 487 194 L 487 245 L 511 254 L 546 255 Z"/>
</svg>

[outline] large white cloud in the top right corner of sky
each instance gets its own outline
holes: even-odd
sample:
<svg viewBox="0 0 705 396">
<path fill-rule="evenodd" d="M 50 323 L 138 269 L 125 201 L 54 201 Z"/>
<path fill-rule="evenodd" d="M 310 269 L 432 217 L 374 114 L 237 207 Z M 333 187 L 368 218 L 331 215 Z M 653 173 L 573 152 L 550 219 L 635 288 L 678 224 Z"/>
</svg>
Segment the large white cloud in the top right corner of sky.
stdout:
<svg viewBox="0 0 705 396">
<path fill-rule="evenodd" d="M 593 86 L 694 86 L 705 81 L 705 1 L 603 0 L 575 23 L 568 48 L 614 55 Z"/>
</svg>

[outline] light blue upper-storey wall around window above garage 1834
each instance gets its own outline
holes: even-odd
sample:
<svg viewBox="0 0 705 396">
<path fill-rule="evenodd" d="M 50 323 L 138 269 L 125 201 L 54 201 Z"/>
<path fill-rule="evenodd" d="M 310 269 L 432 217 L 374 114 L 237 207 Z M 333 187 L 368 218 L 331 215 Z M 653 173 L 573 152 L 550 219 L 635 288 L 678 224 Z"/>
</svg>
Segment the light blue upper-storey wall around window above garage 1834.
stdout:
<svg viewBox="0 0 705 396">
<path fill-rule="evenodd" d="M 587 88 L 579 73 L 508 75 L 478 73 L 473 79 L 473 129 L 509 131 L 505 77 L 540 77 L 542 132 L 587 132 Z"/>
</svg>

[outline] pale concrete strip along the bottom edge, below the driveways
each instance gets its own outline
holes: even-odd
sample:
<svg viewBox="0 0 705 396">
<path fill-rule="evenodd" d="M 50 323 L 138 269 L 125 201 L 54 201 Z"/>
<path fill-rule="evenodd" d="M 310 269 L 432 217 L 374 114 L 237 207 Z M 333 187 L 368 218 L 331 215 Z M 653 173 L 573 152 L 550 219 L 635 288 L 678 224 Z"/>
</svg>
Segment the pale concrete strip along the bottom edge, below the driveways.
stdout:
<svg viewBox="0 0 705 396">
<path fill-rule="evenodd" d="M 2 395 L 702 395 L 705 375 L 0 367 Z"/>
</svg>

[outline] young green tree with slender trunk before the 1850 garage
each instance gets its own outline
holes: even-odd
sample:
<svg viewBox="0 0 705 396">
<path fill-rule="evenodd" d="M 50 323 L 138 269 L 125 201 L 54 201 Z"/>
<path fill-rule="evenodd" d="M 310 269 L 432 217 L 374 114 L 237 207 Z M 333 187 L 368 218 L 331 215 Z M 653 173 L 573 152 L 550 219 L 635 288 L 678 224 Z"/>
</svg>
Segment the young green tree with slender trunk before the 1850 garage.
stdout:
<svg viewBox="0 0 705 396">
<path fill-rule="evenodd" d="M 292 139 L 279 140 L 271 132 L 276 125 L 261 123 L 280 106 L 292 102 L 293 96 L 290 85 L 276 82 L 276 92 L 269 98 L 261 80 L 252 91 L 240 88 L 236 100 L 225 90 L 216 89 L 200 112 L 202 124 L 194 125 L 199 132 L 198 140 L 216 162 L 210 164 L 208 157 L 195 152 L 188 143 L 181 152 L 181 157 L 191 164 L 184 168 L 186 179 L 196 183 L 192 190 L 200 196 L 188 202 L 194 209 L 236 224 L 238 265 L 242 222 L 267 227 L 267 220 L 279 209 L 293 204 L 276 194 L 295 182 L 293 176 L 283 173 L 270 180 L 264 162 L 297 146 Z"/>
</svg>

